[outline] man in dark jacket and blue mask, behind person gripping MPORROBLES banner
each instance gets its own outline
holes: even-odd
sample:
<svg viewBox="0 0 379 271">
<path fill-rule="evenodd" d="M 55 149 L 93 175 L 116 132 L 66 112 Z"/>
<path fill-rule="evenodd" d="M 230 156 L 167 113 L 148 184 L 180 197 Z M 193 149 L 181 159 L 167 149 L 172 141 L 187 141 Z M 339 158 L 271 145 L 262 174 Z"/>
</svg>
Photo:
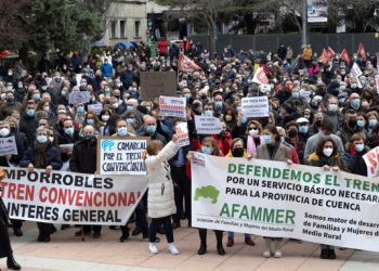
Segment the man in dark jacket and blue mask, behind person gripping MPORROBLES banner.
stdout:
<svg viewBox="0 0 379 271">
<path fill-rule="evenodd" d="M 30 100 L 26 104 L 25 112 L 19 119 L 19 131 L 26 134 L 28 142 L 36 139 L 36 129 L 38 128 L 38 118 L 36 117 L 36 104 Z"/>
</svg>

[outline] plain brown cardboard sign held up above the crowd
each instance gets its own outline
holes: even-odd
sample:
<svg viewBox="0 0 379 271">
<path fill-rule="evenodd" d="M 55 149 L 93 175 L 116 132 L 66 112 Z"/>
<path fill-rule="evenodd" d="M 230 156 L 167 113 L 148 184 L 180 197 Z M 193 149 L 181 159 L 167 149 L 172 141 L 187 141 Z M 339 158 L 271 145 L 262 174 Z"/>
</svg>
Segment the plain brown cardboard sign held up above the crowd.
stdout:
<svg viewBox="0 0 379 271">
<path fill-rule="evenodd" d="M 178 85 L 175 72 L 143 72 L 140 81 L 142 101 L 154 101 L 160 95 L 172 96 Z"/>
</svg>

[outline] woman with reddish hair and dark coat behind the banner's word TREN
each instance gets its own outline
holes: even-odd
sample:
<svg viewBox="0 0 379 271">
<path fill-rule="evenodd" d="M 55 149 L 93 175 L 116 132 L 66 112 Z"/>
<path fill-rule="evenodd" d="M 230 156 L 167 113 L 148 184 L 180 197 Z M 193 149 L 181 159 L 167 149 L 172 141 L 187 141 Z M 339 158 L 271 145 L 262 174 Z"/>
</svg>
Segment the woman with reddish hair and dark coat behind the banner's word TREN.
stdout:
<svg viewBox="0 0 379 271">
<path fill-rule="evenodd" d="M 370 149 L 365 144 L 366 137 L 363 133 L 354 133 L 348 143 L 348 152 L 343 155 L 343 162 L 348 170 L 353 175 L 367 176 L 367 166 L 362 156 Z"/>
</svg>

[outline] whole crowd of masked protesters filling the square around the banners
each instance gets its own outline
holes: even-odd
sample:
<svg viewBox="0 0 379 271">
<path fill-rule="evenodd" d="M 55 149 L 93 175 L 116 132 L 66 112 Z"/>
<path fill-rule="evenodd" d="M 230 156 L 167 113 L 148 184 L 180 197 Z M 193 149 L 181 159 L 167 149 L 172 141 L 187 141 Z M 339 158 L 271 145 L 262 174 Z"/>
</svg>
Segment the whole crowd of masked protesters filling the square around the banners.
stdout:
<svg viewBox="0 0 379 271">
<path fill-rule="evenodd" d="M 178 73 L 180 51 L 201 70 L 180 72 L 177 93 L 172 93 L 186 99 L 186 119 L 161 117 L 158 100 L 140 100 L 139 74 L 145 70 Z M 156 53 L 144 44 L 107 50 L 88 56 L 86 62 L 77 54 L 62 54 L 52 63 L 42 57 L 37 73 L 29 73 L 17 60 L 2 72 L 0 81 L 0 137 L 15 137 L 17 155 L 0 157 L 0 166 L 94 173 L 97 137 L 149 137 L 154 145 L 149 147 L 152 158 L 146 160 L 147 168 L 156 167 L 162 175 L 169 169 L 175 208 L 168 195 L 167 210 L 155 210 L 154 185 L 160 180 L 151 177 L 148 196 L 146 193 L 135 209 L 135 228 L 131 234 L 142 234 L 149 240 L 151 251 L 157 253 L 156 232 L 166 233 L 172 254 L 179 253 L 173 245 L 172 229 L 182 227 L 183 219 L 188 227 L 192 224 L 191 151 L 367 175 L 362 156 L 379 145 L 376 55 L 354 53 L 347 63 L 335 54 L 323 62 L 311 46 L 304 47 L 299 55 L 295 55 L 290 47 L 280 46 L 277 52 L 236 52 L 227 47 L 212 56 L 201 44 L 187 39 L 178 46 L 162 40 L 157 56 L 154 55 Z M 358 78 L 350 73 L 354 63 L 363 72 Z M 269 85 L 252 81 L 259 67 L 264 68 Z M 77 74 L 82 74 L 81 78 Z M 90 102 L 70 104 L 69 93 L 76 91 L 89 91 Z M 241 98 L 258 95 L 269 96 L 270 116 L 245 117 Z M 89 111 L 92 104 L 102 104 L 99 115 Z M 194 125 L 197 115 L 220 118 L 221 133 L 197 134 Z M 178 121 L 187 121 L 191 139 L 187 146 L 175 145 Z M 64 144 L 75 146 L 73 150 L 61 147 Z M 80 158 L 83 156 L 86 162 Z M 149 227 L 147 217 L 153 219 Z M 13 220 L 12 225 L 16 236 L 23 235 L 22 221 Z M 56 231 L 53 224 L 38 223 L 38 242 L 49 242 Z M 87 225 L 76 235 L 92 234 L 99 238 L 101 230 L 99 225 Z M 128 224 L 121 232 L 120 241 L 127 241 Z M 198 254 L 202 255 L 207 251 L 206 229 L 199 230 L 199 237 Z M 215 237 L 218 253 L 224 255 L 223 232 L 215 231 Z M 264 257 L 282 257 L 282 241 L 275 241 L 272 248 L 272 240 L 266 238 Z M 248 234 L 245 243 L 254 245 Z M 233 245 L 234 234 L 230 232 L 226 246 Z M 334 247 L 323 245 L 321 258 L 335 259 Z"/>
</svg>

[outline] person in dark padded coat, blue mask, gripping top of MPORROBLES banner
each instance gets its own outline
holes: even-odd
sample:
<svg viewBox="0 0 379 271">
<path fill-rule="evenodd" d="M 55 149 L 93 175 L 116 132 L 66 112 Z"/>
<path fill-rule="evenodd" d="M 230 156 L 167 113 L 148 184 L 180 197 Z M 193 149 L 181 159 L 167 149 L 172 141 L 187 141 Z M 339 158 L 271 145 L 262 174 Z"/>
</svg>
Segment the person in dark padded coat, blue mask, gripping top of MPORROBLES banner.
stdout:
<svg viewBox="0 0 379 271">
<path fill-rule="evenodd" d="M 24 153 L 19 167 L 27 167 L 29 172 L 34 172 L 35 168 L 45 168 L 47 173 L 51 173 L 52 170 L 60 170 L 62 165 L 61 153 L 49 141 L 48 129 L 39 127 L 36 131 L 36 141 Z M 50 242 L 50 234 L 56 229 L 51 223 L 37 222 L 37 224 L 39 229 L 37 241 Z"/>
</svg>

